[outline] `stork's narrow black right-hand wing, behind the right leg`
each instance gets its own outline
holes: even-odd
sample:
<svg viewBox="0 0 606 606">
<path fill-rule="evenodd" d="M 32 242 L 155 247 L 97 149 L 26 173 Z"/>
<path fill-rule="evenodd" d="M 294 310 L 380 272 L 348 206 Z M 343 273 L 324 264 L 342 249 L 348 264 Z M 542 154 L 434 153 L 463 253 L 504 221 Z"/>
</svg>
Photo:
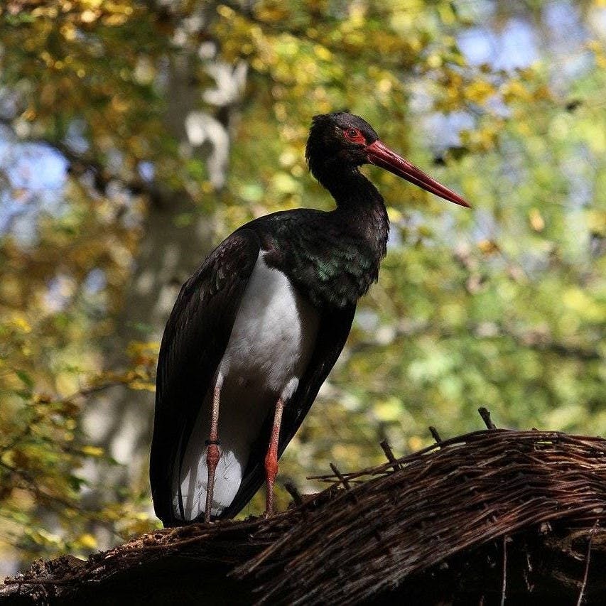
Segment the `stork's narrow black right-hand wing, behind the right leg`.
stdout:
<svg viewBox="0 0 606 606">
<path fill-rule="evenodd" d="M 282 423 L 280 430 L 280 441 L 278 443 L 278 458 L 281 457 L 288 443 L 293 439 L 296 431 L 303 422 L 311 405 L 318 395 L 320 386 L 337 362 L 347 336 L 350 334 L 352 321 L 354 319 L 356 306 L 348 305 L 345 308 L 334 308 L 326 311 L 320 319 L 318 327 L 318 340 L 310 358 L 307 370 L 299 383 L 297 391 L 288 402 L 284 403 Z M 264 460 L 269 446 L 271 426 L 274 422 L 272 411 L 266 418 L 259 439 L 252 445 L 249 462 L 242 484 L 227 509 L 220 514 L 220 518 L 232 518 L 235 516 L 261 487 L 265 480 Z"/>
</svg>

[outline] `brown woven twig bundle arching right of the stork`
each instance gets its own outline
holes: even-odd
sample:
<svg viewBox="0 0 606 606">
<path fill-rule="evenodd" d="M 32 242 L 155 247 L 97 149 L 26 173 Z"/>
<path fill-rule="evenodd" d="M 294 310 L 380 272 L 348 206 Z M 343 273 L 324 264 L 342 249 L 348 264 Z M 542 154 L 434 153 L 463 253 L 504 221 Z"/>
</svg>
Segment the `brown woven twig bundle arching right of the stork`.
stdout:
<svg viewBox="0 0 606 606">
<path fill-rule="evenodd" d="M 394 469 L 395 467 L 395 469 Z M 590 527 L 606 507 L 606 441 L 478 431 L 355 473 L 240 575 L 293 604 L 364 600 L 450 556 L 549 521 Z M 318 562 L 322 566 L 318 566 Z"/>
</svg>

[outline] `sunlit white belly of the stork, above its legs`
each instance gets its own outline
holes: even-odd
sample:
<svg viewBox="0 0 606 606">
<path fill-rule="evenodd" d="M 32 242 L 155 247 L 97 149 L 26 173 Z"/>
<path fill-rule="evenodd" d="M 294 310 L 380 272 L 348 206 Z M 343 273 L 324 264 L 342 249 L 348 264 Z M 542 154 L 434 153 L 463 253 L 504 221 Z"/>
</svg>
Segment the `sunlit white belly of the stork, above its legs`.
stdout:
<svg viewBox="0 0 606 606">
<path fill-rule="evenodd" d="M 318 334 L 319 314 L 261 251 L 222 359 L 225 379 L 288 399 L 298 386 Z"/>
</svg>

